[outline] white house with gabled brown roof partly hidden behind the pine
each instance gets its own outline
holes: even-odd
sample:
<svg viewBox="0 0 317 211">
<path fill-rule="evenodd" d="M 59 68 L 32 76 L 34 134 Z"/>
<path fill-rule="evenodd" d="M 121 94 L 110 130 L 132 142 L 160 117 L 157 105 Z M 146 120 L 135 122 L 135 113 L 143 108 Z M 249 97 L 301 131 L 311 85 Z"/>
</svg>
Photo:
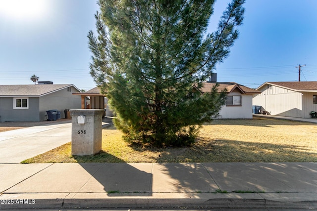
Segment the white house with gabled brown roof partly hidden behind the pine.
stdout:
<svg viewBox="0 0 317 211">
<path fill-rule="evenodd" d="M 259 91 L 234 82 L 206 82 L 201 91 L 210 92 L 215 84 L 219 84 L 218 92 L 225 88 L 227 90 L 226 104 L 221 107 L 217 118 L 252 119 L 252 97 L 253 94 L 260 93 Z"/>
</svg>

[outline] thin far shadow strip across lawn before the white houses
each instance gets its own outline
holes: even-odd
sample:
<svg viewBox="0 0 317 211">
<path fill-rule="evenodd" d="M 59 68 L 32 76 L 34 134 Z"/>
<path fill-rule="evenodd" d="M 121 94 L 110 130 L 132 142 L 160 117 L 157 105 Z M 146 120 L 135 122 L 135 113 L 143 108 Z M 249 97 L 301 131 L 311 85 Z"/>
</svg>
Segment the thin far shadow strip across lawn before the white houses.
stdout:
<svg viewBox="0 0 317 211">
<path fill-rule="evenodd" d="M 265 118 L 253 118 L 253 119 L 226 119 L 226 120 L 212 120 L 211 122 L 204 123 L 203 125 L 232 125 L 232 126 L 254 126 L 254 127 L 271 127 L 277 125 L 283 126 L 304 126 L 312 125 L 317 126 L 314 123 L 298 122 L 291 120 L 276 120 Z"/>
</svg>

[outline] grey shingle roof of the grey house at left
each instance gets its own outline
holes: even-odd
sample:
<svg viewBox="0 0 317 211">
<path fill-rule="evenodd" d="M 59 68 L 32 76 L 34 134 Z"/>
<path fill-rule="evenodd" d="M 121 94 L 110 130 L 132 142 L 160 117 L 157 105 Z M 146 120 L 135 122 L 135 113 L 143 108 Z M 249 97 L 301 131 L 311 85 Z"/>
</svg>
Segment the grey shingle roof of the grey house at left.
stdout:
<svg viewBox="0 0 317 211">
<path fill-rule="evenodd" d="M 73 84 L 0 85 L 0 97 L 41 97 Z M 80 91 L 76 86 L 74 86 Z"/>
</svg>

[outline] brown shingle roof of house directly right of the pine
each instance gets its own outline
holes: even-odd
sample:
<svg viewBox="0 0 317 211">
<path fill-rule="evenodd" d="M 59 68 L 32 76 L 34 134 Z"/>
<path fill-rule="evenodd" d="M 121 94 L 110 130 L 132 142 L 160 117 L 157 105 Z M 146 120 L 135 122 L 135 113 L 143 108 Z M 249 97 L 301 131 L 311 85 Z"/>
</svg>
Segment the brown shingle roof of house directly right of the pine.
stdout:
<svg viewBox="0 0 317 211">
<path fill-rule="evenodd" d="M 215 85 L 218 84 L 218 92 L 221 92 L 223 89 L 227 89 L 227 93 L 232 92 L 235 89 L 238 89 L 241 93 L 243 94 L 255 94 L 255 93 L 260 93 L 260 91 L 257 91 L 253 88 L 249 88 L 247 86 L 241 85 L 241 84 L 237 84 L 234 82 L 205 82 L 203 83 L 203 87 L 201 88 L 202 92 L 210 92 L 211 88 Z"/>
</svg>

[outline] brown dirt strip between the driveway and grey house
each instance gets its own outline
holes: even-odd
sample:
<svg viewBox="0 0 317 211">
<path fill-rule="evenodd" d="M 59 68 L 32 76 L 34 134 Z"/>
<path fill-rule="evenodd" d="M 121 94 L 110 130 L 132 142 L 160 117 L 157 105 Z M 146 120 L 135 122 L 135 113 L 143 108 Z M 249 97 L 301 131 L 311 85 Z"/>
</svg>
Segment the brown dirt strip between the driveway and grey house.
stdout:
<svg viewBox="0 0 317 211">
<path fill-rule="evenodd" d="M 56 121 L 41 121 L 41 122 L 4 122 L 4 123 L 0 123 L 0 132 L 14 130 L 14 129 L 21 129 L 25 127 L 47 125 L 52 123 L 58 124 L 58 123 L 62 123 L 69 120 L 71 119 L 60 119 Z"/>
</svg>

